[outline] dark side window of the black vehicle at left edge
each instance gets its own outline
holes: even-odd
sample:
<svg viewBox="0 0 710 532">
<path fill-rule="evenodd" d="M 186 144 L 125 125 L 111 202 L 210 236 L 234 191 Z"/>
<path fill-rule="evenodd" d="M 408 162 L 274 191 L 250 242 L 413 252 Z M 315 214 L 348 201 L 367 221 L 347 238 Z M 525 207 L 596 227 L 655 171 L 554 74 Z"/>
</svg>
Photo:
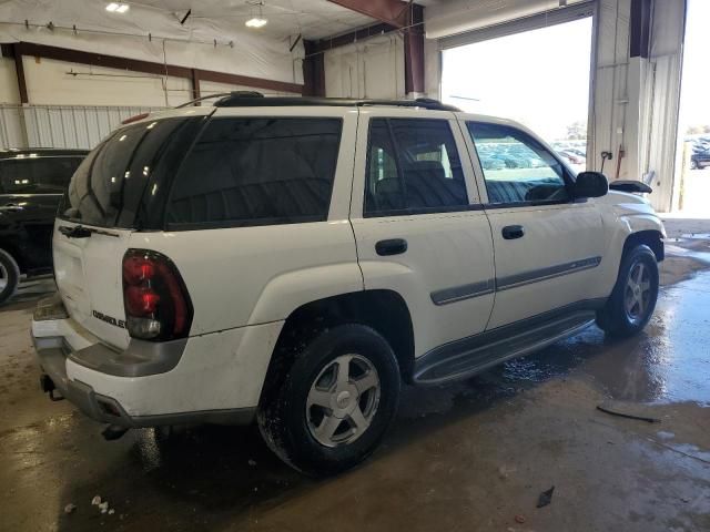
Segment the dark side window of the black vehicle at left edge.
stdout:
<svg viewBox="0 0 710 532">
<path fill-rule="evenodd" d="M 0 161 L 0 194 L 63 194 L 80 163 L 79 156 Z"/>
</svg>

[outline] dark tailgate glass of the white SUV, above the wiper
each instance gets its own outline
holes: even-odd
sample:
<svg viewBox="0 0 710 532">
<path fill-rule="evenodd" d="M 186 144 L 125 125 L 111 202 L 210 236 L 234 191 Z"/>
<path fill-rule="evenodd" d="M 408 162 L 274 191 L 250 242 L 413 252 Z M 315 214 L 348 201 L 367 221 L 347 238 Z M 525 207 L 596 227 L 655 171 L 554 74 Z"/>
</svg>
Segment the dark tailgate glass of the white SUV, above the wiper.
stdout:
<svg viewBox="0 0 710 532">
<path fill-rule="evenodd" d="M 131 228 L 155 196 L 161 177 L 182 160 L 196 119 L 164 119 L 119 130 L 79 166 L 60 208 L 61 217 L 87 225 Z"/>
</svg>

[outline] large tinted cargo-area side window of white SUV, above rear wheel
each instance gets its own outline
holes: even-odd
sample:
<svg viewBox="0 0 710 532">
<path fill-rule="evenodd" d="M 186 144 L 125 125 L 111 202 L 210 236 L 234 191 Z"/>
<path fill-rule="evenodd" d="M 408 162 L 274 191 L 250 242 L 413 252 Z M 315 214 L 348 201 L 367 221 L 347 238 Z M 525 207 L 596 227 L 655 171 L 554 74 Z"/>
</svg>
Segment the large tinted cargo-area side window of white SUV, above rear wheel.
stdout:
<svg viewBox="0 0 710 532">
<path fill-rule="evenodd" d="M 171 228 L 327 218 L 341 119 L 213 119 L 175 178 Z"/>
</svg>

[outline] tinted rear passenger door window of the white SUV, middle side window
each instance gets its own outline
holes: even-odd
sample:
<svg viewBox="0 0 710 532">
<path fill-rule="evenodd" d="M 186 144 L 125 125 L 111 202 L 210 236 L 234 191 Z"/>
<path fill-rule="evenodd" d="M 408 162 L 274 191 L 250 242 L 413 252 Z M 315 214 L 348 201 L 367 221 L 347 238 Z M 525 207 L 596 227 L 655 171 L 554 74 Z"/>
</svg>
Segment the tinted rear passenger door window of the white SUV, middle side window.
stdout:
<svg viewBox="0 0 710 532">
<path fill-rule="evenodd" d="M 366 176 L 366 215 L 468 205 L 456 143 L 445 120 L 373 119 Z"/>
</svg>

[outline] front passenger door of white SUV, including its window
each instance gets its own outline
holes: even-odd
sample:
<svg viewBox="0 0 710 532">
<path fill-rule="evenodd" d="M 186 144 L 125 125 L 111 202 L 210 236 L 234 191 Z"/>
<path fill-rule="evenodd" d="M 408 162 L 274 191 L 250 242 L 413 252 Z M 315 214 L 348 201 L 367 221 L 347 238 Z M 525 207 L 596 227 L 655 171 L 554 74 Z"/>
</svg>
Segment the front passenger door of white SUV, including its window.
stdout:
<svg viewBox="0 0 710 532">
<path fill-rule="evenodd" d="M 604 227 L 594 200 L 571 200 L 570 171 L 530 133 L 474 117 L 462 125 L 477 154 L 493 231 L 496 303 L 488 328 L 591 304 L 604 259 Z"/>
</svg>

